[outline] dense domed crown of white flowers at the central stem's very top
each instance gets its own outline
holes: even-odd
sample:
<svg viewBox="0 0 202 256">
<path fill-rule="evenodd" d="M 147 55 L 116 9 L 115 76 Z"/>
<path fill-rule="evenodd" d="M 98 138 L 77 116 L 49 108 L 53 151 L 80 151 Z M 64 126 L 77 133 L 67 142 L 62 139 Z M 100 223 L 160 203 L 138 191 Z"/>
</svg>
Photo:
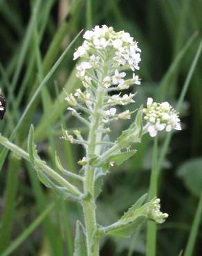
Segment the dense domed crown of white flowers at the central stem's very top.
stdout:
<svg viewBox="0 0 202 256">
<path fill-rule="evenodd" d="M 97 49 L 104 50 L 108 46 L 111 53 L 113 53 L 113 60 L 119 66 L 130 67 L 133 71 L 139 69 L 140 62 L 140 48 L 138 43 L 134 41 L 133 37 L 125 31 L 116 33 L 113 28 L 103 25 L 101 28 L 95 26 L 93 30 L 87 30 L 84 33 L 84 43 L 77 48 L 74 54 L 74 60 L 77 57 L 82 57 L 85 54 L 91 55 Z"/>
</svg>

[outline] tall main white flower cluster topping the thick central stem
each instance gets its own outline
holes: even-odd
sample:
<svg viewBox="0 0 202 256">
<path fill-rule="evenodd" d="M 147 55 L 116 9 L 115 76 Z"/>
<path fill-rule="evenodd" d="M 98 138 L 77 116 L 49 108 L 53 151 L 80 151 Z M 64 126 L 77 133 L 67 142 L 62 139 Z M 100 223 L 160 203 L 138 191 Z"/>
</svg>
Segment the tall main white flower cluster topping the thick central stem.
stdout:
<svg viewBox="0 0 202 256">
<path fill-rule="evenodd" d="M 111 120 L 130 119 L 129 110 L 117 113 L 116 105 L 127 105 L 134 103 L 135 93 L 115 93 L 111 91 L 122 91 L 129 89 L 133 84 L 140 84 L 138 75 L 134 73 L 139 69 L 140 48 L 129 33 L 120 31 L 116 33 L 112 27 L 103 25 L 95 26 L 92 30 L 84 33 L 84 42 L 78 47 L 73 55 L 73 60 L 82 57 L 82 62 L 77 64 L 77 77 L 82 81 L 85 91 L 77 89 L 75 93 L 66 93 L 66 101 L 71 107 L 82 109 L 91 114 L 97 102 L 98 91 L 103 93 L 103 104 L 100 109 L 103 125 Z M 132 77 L 128 77 L 127 69 L 133 71 Z M 82 101 L 82 102 L 81 102 Z M 86 107 L 82 107 L 83 103 Z M 76 110 L 68 108 L 74 116 L 81 120 Z M 109 132 L 109 127 L 105 128 Z M 72 140 L 71 140 L 72 141 Z"/>
</svg>

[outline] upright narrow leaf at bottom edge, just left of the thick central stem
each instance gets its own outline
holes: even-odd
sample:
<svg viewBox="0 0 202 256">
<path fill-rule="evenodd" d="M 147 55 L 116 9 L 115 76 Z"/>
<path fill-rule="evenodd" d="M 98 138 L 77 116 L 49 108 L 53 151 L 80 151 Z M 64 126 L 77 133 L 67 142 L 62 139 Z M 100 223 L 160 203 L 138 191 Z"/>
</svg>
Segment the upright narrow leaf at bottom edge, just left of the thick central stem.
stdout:
<svg viewBox="0 0 202 256">
<path fill-rule="evenodd" d="M 80 221 L 77 221 L 74 241 L 73 256 L 87 256 L 86 252 L 86 236 L 84 227 Z"/>
</svg>

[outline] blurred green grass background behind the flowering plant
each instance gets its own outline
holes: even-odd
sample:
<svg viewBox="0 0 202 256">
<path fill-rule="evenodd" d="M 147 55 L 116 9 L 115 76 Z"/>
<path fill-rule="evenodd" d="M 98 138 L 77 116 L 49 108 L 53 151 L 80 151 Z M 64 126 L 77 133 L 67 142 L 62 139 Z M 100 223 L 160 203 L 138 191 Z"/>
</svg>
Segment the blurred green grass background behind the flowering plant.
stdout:
<svg viewBox="0 0 202 256">
<path fill-rule="evenodd" d="M 12 139 L 26 149 L 28 129 L 33 123 L 39 154 L 53 167 L 57 150 L 64 165 L 77 172 L 77 161 L 83 153 L 81 147 L 59 139 L 61 124 L 85 132 L 66 111 L 63 91 L 63 87 L 71 92 L 81 86 L 75 77 L 73 51 L 81 44 L 82 36 L 44 82 L 37 97 L 33 95 L 82 28 L 106 24 L 131 33 L 139 42 L 142 62 L 138 75 L 142 84 L 134 89 L 138 91 L 136 107 L 145 104 L 148 96 L 176 106 L 187 82 L 180 111 L 183 131 L 172 136 L 160 172 L 158 196 L 169 218 L 158 226 L 157 255 L 179 255 L 185 249 L 202 200 L 201 57 L 187 80 L 201 41 L 201 10 L 201 0 L 0 0 L 0 86 L 8 102 L 0 131 L 7 137 L 16 131 Z M 19 122 L 30 102 L 25 118 Z M 128 121 L 116 122 L 111 127 L 113 136 L 128 125 Z M 160 147 L 164 140 L 162 134 Z M 82 218 L 80 205 L 59 201 L 39 183 L 28 163 L 0 149 L 0 255 L 72 255 L 75 221 Z M 151 157 L 152 140 L 146 136 L 133 158 L 112 169 L 98 199 L 101 224 L 116 221 L 148 191 Z M 198 212 L 201 221 L 200 209 Z M 145 227 L 130 239 L 104 239 L 100 255 L 145 255 Z M 202 255 L 201 239 L 199 229 L 195 256 Z"/>
</svg>

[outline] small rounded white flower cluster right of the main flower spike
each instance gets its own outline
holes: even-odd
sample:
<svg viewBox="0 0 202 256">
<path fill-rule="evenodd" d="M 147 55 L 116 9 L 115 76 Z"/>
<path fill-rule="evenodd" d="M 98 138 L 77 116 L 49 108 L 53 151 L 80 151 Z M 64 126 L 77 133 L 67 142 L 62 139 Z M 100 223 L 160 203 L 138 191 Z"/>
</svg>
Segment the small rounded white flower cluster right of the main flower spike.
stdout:
<svg viewBox="0 0 202 256">
<path fill-rule="evenodd" d="M 181 122 L 178 113 L 168 102 L 156 103 L 152 98 L 147 99 L 147 108 L 143 109 L 144 119 L 147 121 L 145 129 L 151 137 L 155 137 L 158 131 L 181 130 Z"/>
</svg>

